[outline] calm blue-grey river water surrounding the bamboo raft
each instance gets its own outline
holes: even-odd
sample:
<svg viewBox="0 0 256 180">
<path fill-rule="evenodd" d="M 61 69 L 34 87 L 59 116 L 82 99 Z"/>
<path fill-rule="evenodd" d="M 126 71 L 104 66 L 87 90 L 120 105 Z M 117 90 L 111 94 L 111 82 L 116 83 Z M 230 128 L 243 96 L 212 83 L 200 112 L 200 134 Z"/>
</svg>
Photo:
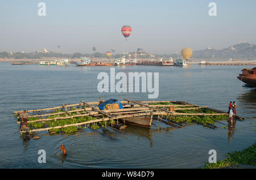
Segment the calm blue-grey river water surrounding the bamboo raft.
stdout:
<svg viewBox="0 0 256 180">
<path fill-rule="evenodd" d="M 187 101 L 225 112 L 229 102 L 236 101 L 240 106 L 237 114 L 245 121 L 237 121 L 231 133 L 222 128 L 228 126 L 226 121 L 216 130 L 200 125 L 174 130 L 154 121 L 150 130 L 128 126 L 123 133 L 90 128 L 72 135 L 40 132 L 40 139 L 25 142 L 19 136 L 15 110 L 97 101 L 99 96 L 103 100 L 149 100 L 148 93 L 99 93 L 97 75 L 110 74 L 110 67 L 0 63 L 0 168 L 200 168 L 208 161 L 210 149 L 216 149 L 217 160 L 225 158 L 226 153 L 240 151 L 256 140 L 256 89 L 241 89 L 236 78 L 245 67 L 252 68 L 115 67 L 116 73 L 159 72 L 159 97 L 155 100 Z M 67 157 L 60 153 L 61 144 L 67 148 Z M 38 163 L 39 149 L 46 151 L 46 164 Z"/>
</svg>

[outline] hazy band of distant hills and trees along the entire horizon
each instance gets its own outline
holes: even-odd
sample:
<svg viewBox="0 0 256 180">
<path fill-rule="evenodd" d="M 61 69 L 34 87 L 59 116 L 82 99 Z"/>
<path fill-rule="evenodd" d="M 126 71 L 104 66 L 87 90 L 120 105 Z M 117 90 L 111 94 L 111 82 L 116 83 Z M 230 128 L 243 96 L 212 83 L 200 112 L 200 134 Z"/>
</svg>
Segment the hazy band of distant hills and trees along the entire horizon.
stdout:
<svg viewBox="0 0 256 180">
<path fill-rule="evenodd" d="M 122 57 L 124 54 L 113 54 L 112 58 Z M 93 54 L 62 54 L 55 52 L 0 52 L 0 58 L 7 59 L 42 59 L 42 58 L 80 58 L 80 57 L 89 57 L 89 58 L 106 58 L 105 53 L 93 53 Z M 177 58 L 177 54 L 150 54 L 145 51 L 142 54 L 137 54 L 137 52 L 130 52 L 125 54 L 126 58 L 138 58 L 138 59 L 168 59 L 170 57 Z M 250 44 L 247 42 L 242 42 L 229 48 L 216 50 L 207 48 L 204 50 L 193 50 L 191 59 L 256 59 L 256 44 Z"/>
</svg>

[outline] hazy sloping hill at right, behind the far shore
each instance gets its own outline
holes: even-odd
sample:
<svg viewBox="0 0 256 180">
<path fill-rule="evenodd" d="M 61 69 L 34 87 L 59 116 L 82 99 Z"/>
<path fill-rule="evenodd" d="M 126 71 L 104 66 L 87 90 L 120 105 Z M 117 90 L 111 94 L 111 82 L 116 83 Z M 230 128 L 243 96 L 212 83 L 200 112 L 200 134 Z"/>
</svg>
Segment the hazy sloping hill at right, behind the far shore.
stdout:
<svg viewBox="0 0 256 180">
<path fill-rule="evenodd" d="M 210 48 L 195 50 L 191 58 L 254 59 L 256 58 L 256 44 L 242 42 L 221 50 Z"/>
</svg>

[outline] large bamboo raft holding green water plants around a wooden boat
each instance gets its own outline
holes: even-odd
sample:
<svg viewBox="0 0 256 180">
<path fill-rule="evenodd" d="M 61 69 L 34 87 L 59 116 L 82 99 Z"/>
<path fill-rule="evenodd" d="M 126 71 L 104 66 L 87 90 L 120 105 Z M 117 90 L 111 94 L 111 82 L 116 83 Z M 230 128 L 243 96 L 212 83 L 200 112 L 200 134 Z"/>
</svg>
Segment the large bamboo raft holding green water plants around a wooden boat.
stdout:
<svg viewBox="0 0 256 180">
<path fill-rule="evenodd" d="M 117 130 L 126 128 L 127 125 L 141 126 L 150 128 L 152 121 L 160 121 L 174 128 L 180 128 L 187 125 L 186 122 L 174 121 L 175 117 L 214 117 L 218 115 L 226 116 L 228 113 L 220 110 L 211 109 L 207 106 L 197 106 L 184 101 L 131 101 L 123 100 L 122 109 L 104 109 L 100 110 L 97 105 L 102 101 L 85 102 L 81 101 L 77 104 L 56 106 L 53 108 L 27 110 L 28 127 L 22 126 L 19 115 L 22 111 L 15 111 L 19 132 L 28 135 L 32 132 L 52 130 L 63 131 L 68 127 L 94 127 L 98 123 L 106 128 L 110 126 Z M 192 110 L 193 112 L 183 112 L 184 110 Z M 210 110 L 212 113 L 196 112 L 199 110 Z M 179 112 L 181 111 L 181 112 Z M 80 120 L 77 120 L 80 119 Z M 81 120 L 82 119 L 82 120 Z M 223 120 L 223 119 L 222 119 Z M 68 121 L 67 123 L 65 121 Z M 59 126 L 53 126 L 55 122 L 59 122 Z M 75 122 L 75 123 L 72 123 Z M 39 123 L 40 128 L 32 128 L 35 123 Z M 212 123 L 196 122 L 209 128 L 217 128 Z M 48 126 L 50 125 L 50 126 Z M 81 128 L 80 128 L 81 130 Z M 82 131 L 82 130 L 81 130 Z M 26 138 L 26 137 L 25 137 Z"/>
</svg>

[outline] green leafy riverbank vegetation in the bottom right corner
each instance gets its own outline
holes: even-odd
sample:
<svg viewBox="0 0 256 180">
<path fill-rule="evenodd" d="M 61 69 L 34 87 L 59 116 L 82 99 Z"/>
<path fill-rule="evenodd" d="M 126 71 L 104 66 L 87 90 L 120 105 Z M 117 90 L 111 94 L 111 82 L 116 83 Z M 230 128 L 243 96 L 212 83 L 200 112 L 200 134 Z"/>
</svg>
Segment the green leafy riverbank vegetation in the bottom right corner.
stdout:
<svg viewBox="0 0 256 180">
<path fill-rule="evenodd" d="M 242 151 L 234 151 L 227 155 L 227 158 L 217 161 L 217 163 L 208 162 L 205 164 L 205 169 L 256 168 L 256 143 Z"/>
</svg>

